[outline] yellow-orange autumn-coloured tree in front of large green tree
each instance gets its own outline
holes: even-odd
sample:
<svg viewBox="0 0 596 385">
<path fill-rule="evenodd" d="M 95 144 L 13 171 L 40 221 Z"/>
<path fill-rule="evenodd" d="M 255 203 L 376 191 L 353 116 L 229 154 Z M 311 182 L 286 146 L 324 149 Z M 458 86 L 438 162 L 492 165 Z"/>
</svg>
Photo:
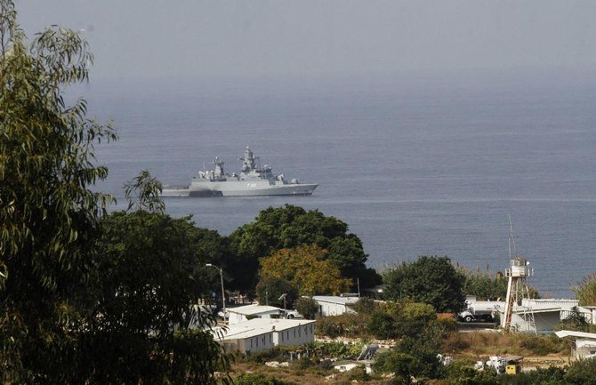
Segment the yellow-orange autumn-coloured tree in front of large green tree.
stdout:
<svg viewBox="0 0 596 385">
<path fill-rule="evenodd" d="M 262 279 L 277 277 L 298 289 L 300 295 L 339 294 L 350 287 L 339 269 L 325 260 L 326 251 L 317 245 L 281 249 L 261 260 Z"/>
</svg>

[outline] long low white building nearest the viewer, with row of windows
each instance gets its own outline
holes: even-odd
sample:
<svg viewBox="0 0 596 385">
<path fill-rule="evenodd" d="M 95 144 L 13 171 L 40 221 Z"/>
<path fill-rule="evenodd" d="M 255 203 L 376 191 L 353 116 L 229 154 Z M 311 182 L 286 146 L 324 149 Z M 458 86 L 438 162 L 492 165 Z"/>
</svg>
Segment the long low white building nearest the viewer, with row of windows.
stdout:
<svg viewBox="0 0 596 385">
<path fill-rule="evenodd" d="M 215 339 L 226 351 L 243 353 L 271 349 L 274 346 L 301 346 L 315 341 L 315 321 L 308 319 L 254 318 L 219 329 Z"/>
</svg>

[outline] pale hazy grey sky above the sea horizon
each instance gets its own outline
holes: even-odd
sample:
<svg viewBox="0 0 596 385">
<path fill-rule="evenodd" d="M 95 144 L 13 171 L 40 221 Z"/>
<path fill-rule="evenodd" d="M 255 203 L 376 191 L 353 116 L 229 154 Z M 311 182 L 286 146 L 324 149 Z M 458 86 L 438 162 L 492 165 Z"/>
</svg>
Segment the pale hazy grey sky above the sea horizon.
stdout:
<svg viewBox="0 0 596 385">
<path fill-rule="evenodd" d="M 28 36 L 85 28 L 93 76 L 596 67 L 596 1 L 15 0 Z"/>
</svg>

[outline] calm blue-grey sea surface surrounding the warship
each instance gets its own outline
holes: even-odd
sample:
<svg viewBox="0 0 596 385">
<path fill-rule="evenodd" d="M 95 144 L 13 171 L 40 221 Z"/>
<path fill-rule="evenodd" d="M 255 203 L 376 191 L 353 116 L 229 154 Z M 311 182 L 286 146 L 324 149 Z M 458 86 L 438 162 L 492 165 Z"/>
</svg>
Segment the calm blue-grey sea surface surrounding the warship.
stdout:
<svg viewBox="0 0 596 385">
<path fill-rule="evenodd" d="M 447 254 L 492 271 L 508 267 L 511 214 L 530 285 L 570 297 L 596 271 L 594 78 L 92 79 L 78 93 L 118 129 L 97 156 L 119 205 L 143 169 L 188 184 L 214 156 L 238 172 L 250 145 L 273 172 L 318 182 L 315 194 L 168 198 L 167 213 L 225 235 L 270 205 L 301 205 L 347 222 L 371 267 Z"/>
</svg>

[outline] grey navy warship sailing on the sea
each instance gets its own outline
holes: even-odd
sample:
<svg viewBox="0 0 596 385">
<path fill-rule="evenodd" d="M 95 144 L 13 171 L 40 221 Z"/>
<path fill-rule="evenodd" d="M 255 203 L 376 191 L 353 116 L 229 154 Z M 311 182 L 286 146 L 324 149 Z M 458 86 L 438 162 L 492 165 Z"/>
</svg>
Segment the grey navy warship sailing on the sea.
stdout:
<svg viewBox="0 0 596 385">
<path fill-rule="evenodd" d="M 223 160 L 215 157 L 213 170 L 198 172 L 189 186 L 164 186 L 162 197 L 259 197 L 259 196 L 310 196 L 317 183 L 287 181 L 284 174 L 274 176 L 271 167 L 261 166 L 253 151 L 246 146 L 242 170 L 225 173 Z"/>
</svg>

